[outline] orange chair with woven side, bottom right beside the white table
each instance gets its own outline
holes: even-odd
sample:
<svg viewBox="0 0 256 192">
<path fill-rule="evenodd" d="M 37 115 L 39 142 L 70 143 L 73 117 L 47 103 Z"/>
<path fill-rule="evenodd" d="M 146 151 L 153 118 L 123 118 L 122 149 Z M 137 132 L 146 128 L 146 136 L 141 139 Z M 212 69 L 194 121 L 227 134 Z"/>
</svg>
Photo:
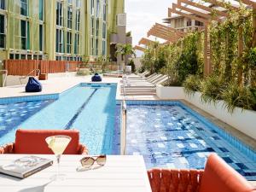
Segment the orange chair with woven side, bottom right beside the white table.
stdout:
<svg viewBox="0 0 256 192">
<path fill-rule="evenodd" d="M 256 192 L 238 172 L 217 154 L 211 154 L 205 170 L 148 171 L 153 192 Z"/>
</svg>

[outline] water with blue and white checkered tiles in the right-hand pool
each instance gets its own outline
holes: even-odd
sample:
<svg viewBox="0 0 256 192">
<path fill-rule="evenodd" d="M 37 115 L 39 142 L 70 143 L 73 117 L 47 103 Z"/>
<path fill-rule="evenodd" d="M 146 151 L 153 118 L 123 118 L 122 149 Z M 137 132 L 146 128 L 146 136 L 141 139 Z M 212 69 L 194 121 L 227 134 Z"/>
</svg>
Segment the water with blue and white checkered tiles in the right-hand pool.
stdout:
<svg viewBox="0 0 256 192">
<path fill-rule="evenodd" d="M 182 105 L 128 105 L 127 154 L 142 154 L 147 168 L 203 169 L 215 152 L 237 172 L 256 180 L 256 160 L 221 137 Z"/>
</svg>

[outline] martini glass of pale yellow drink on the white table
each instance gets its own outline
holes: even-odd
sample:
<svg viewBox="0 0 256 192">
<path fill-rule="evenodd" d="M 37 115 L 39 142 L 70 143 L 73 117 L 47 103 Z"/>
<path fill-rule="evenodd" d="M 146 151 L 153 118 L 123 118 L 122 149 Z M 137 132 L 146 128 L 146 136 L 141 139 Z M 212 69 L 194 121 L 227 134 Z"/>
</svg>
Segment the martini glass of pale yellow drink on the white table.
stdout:
<svg viewBox="0 0 256 192">
<path fill-rule="evenodd" d="M 60 160 L 61 160 L 61 154 L 65 151 L 67 148 L 68 143 L 71 141 L 71 137 L 68 136 L 51 136 L 47 137 L 45 139 L 46 143 L 48 144 L 48 147 L 54 152 L 57 158 L 57 174 L 55 175 L 55 180 L 64 179 L 64 175 L 60 174 Z"/>
</svg>

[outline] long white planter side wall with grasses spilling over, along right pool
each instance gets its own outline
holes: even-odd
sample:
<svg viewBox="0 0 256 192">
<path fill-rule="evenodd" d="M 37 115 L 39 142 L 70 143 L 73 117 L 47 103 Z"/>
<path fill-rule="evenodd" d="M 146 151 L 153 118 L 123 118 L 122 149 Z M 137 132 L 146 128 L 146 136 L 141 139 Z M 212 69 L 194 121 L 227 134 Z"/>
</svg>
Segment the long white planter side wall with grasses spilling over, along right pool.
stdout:
<svg viewBox="0 0 256 192">
<path fill-rule="evenodd" d="M 195 92 L 194 96 L 185 96 L 185 100 L 201 108 L 214 117 L 221 119 L 225 123 L 235 127 L 249 137 L 256 139 L 256 112 L 251 110 L 242 110 L 235 108 L 234 113 L 229 113 L 224 108 L 224 102 L 204 103 L 201 102 L 201 93 Z"/>
</svg>

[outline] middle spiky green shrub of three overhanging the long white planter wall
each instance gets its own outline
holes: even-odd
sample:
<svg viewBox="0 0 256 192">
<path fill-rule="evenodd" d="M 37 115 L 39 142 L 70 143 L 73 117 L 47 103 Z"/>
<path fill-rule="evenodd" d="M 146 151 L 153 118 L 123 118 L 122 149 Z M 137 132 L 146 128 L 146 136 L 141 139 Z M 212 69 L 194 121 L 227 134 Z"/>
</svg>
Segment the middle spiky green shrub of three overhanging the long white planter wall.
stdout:
<svg viewBox="0 0 256 192">
<path fill-rule="evenodd" d="M 201 83 L 201 101 L 217 102 L 222 99 L 222 92 L 225 89 L 224 82 L 216 75 L 204 79 Z"/>
</svg>

